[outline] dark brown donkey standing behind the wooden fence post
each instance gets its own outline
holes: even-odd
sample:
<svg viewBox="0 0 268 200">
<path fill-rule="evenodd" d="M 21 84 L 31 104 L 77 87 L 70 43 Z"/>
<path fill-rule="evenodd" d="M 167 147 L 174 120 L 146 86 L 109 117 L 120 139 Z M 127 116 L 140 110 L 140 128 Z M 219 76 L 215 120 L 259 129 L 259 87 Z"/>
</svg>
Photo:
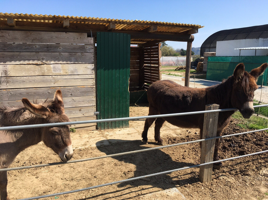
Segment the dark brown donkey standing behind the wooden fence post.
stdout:
<svg viewBox="0 0 268 200">
<path fill-rule="evenodd" d="M 183 113 L 205 110 L 208 104 L 216 103 L 220 109 L 237 108 L 244 118 L 250 118 L 254 113 L 253 97 L 254 91 L 258 89 L 256 84 L 258 77 L 265 71 L 267 63 L 251 70 L 245 71 L 245 66 L 240 63 L 236 66 L 234 73 L 221 84 L 207 88 L 189 88 L 181 86 L 170 80 L 159 80 L 150 85 L 147 90 L 149 101 L 149 114 Z M 229 124 L 234 111 L 219 112 L 217 136 Z M 147 144 L 147 132 L 155 121 L 155 141 L 163 145 L 160 137 L 160 128 L 165 121 L 182 128 L 200 128 L 202 138 L 204 114 L 193 114 L 185 116 L 163 117 L 146 119 L 142 132 L 143 143 Z M 213 160 L 219 160 L 219 139 L 216 140 Z M 214 168 L 220 169 L 222 163 L 214 164 Z"/>
</svg>

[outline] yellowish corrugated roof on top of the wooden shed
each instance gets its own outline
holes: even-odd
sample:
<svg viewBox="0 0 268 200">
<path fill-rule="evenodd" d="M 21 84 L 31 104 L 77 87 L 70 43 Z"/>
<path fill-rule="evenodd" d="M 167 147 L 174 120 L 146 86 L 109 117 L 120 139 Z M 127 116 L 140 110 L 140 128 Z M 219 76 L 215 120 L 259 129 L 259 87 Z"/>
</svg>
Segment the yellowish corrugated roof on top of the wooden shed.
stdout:
<svg viewBox="0 0 268 200">
<path fill-rule="evenodd" d="M 64 25 L 67 22 L 67 25 Z M 38 31 L 70 31 L 70 32 L 87 32 L 88 31 L 112 31 L 125 33 L 149 33 L 146 38 L 133 37 L 136 44 L 150 41 L 164 40 L 156 39 L 150 36 L 156 33 L 191 35 L 198 32 L 203 26 L 196 24 L 144 21 L 144 20 L 122 20 L 107 19 L 95 17 L 78 17 L 78 16 L 60 16 L 60 15 L 38 15 L 38 14 L 18 14 L 18 13 L 0 13 L 0 26 L 2 30 L 38 30 Z M 11 28 L 12 27 L 12 28 Z M 64 29 L 63 29 L 64 28 Z M 46 30 L 47 29 L 47 30 Z M 66 30 L 67 29 L 67 30 Z M 151 35 L 150 35 L 151 34 Z M 166 40 L 170 40 L 166 39 Z M 177 41 L 177 40 L 173 40 Z"/>
</svg>

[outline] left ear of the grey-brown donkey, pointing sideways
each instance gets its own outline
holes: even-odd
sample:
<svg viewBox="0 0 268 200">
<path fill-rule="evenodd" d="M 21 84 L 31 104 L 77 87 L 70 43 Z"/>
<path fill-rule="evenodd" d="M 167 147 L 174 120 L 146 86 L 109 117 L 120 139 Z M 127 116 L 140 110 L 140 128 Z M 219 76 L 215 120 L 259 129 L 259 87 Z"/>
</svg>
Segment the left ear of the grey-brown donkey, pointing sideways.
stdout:
<svg viewBox="0 0 268 200">
<path fill-rule="evenodd" d="M 27 98 L 21 99 L 24 106 L 29 110 L 31 113 L 35 114 L 37 117 L 46 118 L 49 115 L 49 110 L 38 104 L 30 103 Z"/>
</svg>

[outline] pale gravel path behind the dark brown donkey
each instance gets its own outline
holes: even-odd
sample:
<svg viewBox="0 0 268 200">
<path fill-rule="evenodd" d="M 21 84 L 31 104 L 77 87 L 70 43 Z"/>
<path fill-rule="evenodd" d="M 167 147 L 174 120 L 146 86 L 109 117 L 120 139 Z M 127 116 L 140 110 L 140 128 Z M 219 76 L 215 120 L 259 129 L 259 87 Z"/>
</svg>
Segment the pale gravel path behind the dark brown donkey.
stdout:
<svg viewBox="0 0 268 200">
<path fill-rule="evenodd" d="M 162 74 L 162 80 L 173 80 L 174 82 L 184 86 L 184 80 L 181 80 L 182 78 L 184 77 Z M 195 88 L 205 88 L 205 87 L 217 85 L 219 83 L 221 82 L 190 78 L 189 86 L 195 87 Z M 263 88 L 259 87 L 259 89 L 255 91 L 254 99 L 257 101 L 261 100 L 262 103 L 268 103 L 268 87 L 267 86 L 263 86 Z"/>
</svg>

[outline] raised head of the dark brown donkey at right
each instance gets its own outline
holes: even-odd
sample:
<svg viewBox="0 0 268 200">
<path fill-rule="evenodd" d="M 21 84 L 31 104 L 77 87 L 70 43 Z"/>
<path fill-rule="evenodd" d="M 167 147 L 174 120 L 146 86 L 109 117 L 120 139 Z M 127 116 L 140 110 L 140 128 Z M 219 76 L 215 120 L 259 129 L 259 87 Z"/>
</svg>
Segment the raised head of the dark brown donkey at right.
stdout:
<svg viewBox="0 0 268 200">
<path fill-rule="evenodd" d="M 267 63 L 263 63 L 260 67 L 248 73 L 245 71 L 244 64 L 239 63 L 234 70 L 233 76 L 235 81 L 231 102 L 234 107 L 239 109 L 244 118 L 250 118 L 254 113 L 253 97 L 254 91 L 258 89 L 256 82 L 267 66 Z"/>
</svg>

